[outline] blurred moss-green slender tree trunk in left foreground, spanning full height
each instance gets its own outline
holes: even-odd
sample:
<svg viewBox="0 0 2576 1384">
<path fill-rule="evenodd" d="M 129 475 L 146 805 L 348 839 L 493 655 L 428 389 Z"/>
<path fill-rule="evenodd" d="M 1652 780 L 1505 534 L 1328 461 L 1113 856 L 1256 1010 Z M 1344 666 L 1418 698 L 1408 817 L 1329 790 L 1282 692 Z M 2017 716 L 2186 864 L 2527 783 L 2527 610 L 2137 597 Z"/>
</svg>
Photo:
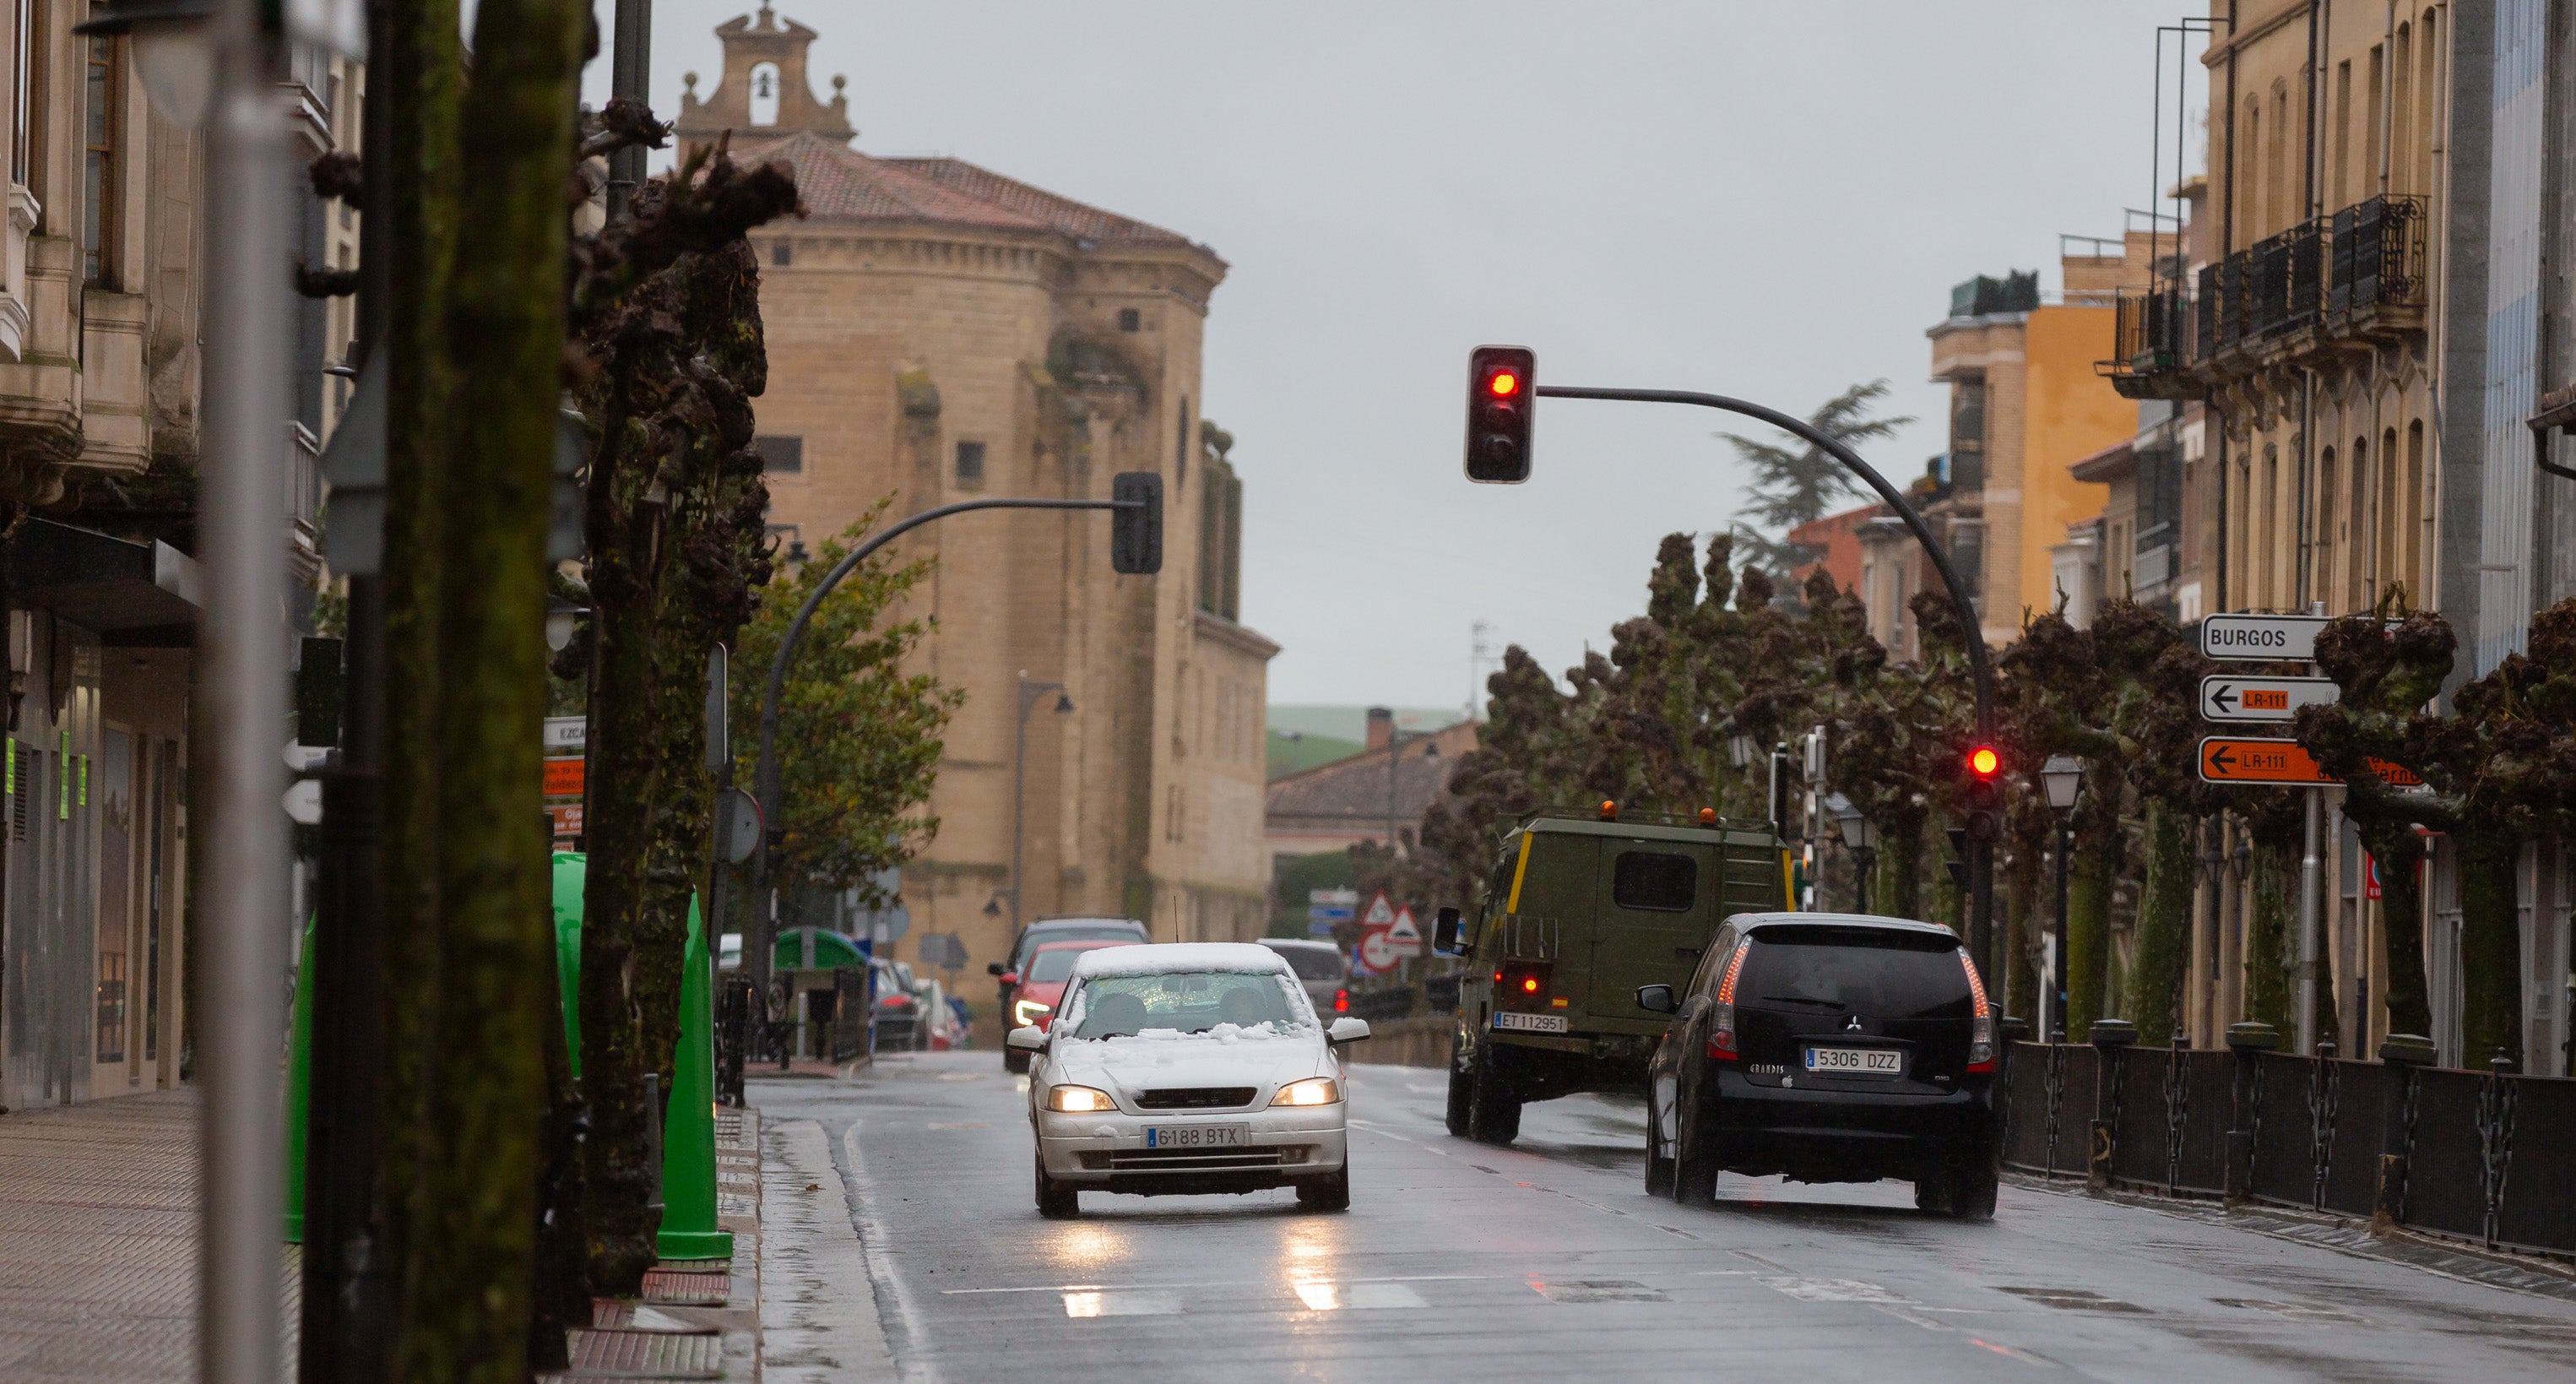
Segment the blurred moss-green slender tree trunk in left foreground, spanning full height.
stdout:
<svg viewBox="0 0 2576 1384">
<path fill-rule="evenodd" d="M 554 1015 L 546 528 L 564 369 L 564 170 L 585 8 L 482 0 L 461 108 L 443 487 L 438 753 L 438 1080 L 417 1178 L 402 1374 L 520 1384 Z"/>
</svg>

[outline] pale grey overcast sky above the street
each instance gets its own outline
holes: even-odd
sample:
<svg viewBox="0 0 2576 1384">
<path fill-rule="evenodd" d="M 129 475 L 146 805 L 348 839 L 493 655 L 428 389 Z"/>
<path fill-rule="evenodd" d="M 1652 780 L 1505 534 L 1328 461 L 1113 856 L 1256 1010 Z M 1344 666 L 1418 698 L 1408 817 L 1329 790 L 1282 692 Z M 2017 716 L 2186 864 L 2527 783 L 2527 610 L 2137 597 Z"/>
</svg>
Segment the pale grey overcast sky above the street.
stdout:
<svg viewBox="0 0 2576 1384">
<path fill-rule="evenodd" d="M 744 10 L 654 0 L 657 111 L 683 72 L 714 85 L 714 26 Z M 1643 608 L 1656 539 L 1736 515 L 1710 436 L 1734 423 L 1705 410 L 1553 399 L 1535 479 L 1468 485 L 1476 343 L 1535 348 L 1548 384 L 1788 412 L 1886 376 L 1919 423 L 1870 459 L 1919 474 L 1942 448 L 1924 327 L 1973 273 L 2053 289 L 2058 232 L 2148 204 L 2154 31 L 2182 10 L 783 5 L 822 31 L 817 93 L 850 77 L 860 149 L 958 155 L 1231 263 L 1206 415 L 1236 438 L 1242 616 L 1280 642 L 1283 704 L 1463 704 L 1479 619 L 1561 670 Z"/>
</svg>

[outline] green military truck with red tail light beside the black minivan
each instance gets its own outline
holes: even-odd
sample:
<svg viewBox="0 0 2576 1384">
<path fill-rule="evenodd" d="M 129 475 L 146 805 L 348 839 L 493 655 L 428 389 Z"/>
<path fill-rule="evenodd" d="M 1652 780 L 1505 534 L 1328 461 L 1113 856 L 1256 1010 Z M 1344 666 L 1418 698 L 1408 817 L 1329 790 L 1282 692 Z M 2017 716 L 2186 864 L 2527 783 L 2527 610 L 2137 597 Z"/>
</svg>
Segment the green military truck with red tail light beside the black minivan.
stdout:
<svg viewBox="0 0 2576 1384">
<path fill-rule="evenodd" d="M 1793 907 L 1788 851 L 1767 822 L 1538 812 L 1502 838 L 1473 918 L 1440 910 L 1432 948 L 1458 982 L 1448 1129 L 1520 1134 L 1525 1100 L 1643 1090 L 1664 1015 L 1641 985 L 1687 985 L 1728 915 Z"/>
</svg>

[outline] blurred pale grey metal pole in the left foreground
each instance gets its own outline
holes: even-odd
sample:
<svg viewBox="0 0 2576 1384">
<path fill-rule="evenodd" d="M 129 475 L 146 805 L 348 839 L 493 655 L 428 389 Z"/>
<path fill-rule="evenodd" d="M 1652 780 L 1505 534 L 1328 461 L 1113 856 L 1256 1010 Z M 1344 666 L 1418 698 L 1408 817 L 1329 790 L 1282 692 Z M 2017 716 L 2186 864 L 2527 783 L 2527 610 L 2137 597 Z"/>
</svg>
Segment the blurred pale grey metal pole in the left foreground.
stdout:
<svg viewBox="0 0 2576 1384">
<path fill-rule="evenodd" d="M 258 0 L 211 15 L 214 106 L 206 137 L 206 366 L 198 554 L 206 606 L 196 652 L 206 745 L 191 820 L 204 830 L 198 1036 L 204 1178 L 198 1186 L 198 1379 L 276 1384 L 278 1338 L 278 1033 L 286 974 L 286 351 L 294 332 L 286 250 L 289 144 L 270 34 Z"/>
</svg>

